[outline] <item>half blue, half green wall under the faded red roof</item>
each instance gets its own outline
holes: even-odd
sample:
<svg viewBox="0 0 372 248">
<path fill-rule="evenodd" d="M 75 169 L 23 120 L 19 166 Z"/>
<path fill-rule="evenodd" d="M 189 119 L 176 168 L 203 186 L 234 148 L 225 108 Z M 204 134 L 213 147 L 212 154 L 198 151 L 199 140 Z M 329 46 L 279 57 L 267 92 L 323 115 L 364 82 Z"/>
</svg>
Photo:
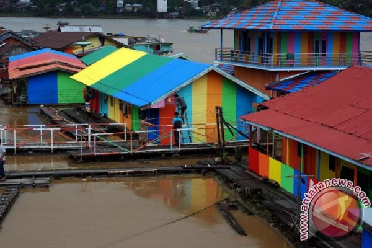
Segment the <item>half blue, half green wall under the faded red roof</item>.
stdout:
<svg viewBox="0 0 372 248">
<path fill-rule="evenodd" d="M 84 84 L 70 78 L 72 73 L 52 71 L 27 78 L 29 104 L 84 103 Z"/>
</svg>

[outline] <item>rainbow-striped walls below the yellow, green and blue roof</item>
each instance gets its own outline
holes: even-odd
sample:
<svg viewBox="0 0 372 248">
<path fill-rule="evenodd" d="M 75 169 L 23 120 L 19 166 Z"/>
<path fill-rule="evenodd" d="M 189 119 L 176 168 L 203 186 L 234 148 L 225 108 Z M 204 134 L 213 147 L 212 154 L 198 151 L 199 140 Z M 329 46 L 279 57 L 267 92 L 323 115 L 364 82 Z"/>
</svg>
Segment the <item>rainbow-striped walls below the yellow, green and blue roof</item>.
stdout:
<svg viewBox="0 0 372 248">
<path fill-rule="evenodd" d="M 186 113 L 190 128 L 198 128 L 191 134 L 192 142 L 217 141 L 216 106 L 222 106 L 227 122 L 232 123 L 234 126 L 238 125 L 237 127 L 240 131 L 247 132 L 248 125 L 243 123 L 238 124 L 237 122 L 240 122 L 238 116 L 253 112 L 254 103 L 260 103 L 264 100 L 215 71 L 209 71 L 193 83 L 177 91 L 177 94 L 185 99 L 188 106 Z M 173 127 L 172 120 L 174 118 L 174 112 L 177 109 L 174 102 L 169 103 L 167 99 L 165 106 L 158 109 L 140 111 L 137 107 L 131 106 L 131 110 L 128 111 L 130 114 L 128 114 L 128 117 L 125 117 L 119 107 L 118 99 L 107 96 L 106 98 L 108 100 L 105 101 L 105 95 L 103 93 L 95 94 L 95 96 L 100 99 L 100 113 L 106 114 L 116 122 L 126 122 L 129 129 L 134 131 L 139 130 L 141 115 L 147 116 L 147 120 L 154 125 L 165 126 L 162 128 L 149 128 L 149 130 L 154 131 L 149 134 L 150 139 L 155 139 L 160 135 L 163 136 L 164 133 L 169 133 Z M 183 131 L 183 135 L 185 137 L 183 142 L 190 142 L 188 132 Z M 226 129 L 225 139 L 228 140 L 230 138 L 232 138 L 232 135 Z M 246 138 L 238 136 L 235 140 L 243 139 Z M 170 144 L 170 140 L 170 137 L 168 137 L 162 139 L 160 143 Z"/>
</svg>

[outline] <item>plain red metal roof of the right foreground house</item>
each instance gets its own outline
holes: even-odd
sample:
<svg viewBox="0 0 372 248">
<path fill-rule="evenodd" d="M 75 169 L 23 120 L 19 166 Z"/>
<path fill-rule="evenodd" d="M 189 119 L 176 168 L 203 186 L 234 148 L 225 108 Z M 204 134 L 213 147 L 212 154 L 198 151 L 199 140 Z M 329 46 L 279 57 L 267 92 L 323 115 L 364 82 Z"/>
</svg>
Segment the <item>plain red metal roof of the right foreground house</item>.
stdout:
<svg viewBox="0 0 372 248">
<path fill-rule="evenodd" d="M 372 166 L 372 68 L 352 66 L 323 83 L 262 103 L 241 119 Z"/>
</svg>

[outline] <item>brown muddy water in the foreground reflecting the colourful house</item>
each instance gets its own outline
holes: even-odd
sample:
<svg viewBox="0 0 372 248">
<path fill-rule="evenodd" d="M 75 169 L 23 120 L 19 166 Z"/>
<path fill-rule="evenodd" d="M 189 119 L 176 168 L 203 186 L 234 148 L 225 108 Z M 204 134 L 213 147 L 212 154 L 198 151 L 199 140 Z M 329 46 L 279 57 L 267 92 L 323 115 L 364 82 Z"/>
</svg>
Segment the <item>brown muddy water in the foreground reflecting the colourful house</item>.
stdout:
<svg viewBox="0 0 372 248">
<path fill-rule="evenodd" d="M 239 218 L 248 236 L 237 235 L 212 206 L 228 193 L 211 178 L 69 182 L 24 191 L 1 247 L 289 247 L 254 216 Z"/>
</svg>

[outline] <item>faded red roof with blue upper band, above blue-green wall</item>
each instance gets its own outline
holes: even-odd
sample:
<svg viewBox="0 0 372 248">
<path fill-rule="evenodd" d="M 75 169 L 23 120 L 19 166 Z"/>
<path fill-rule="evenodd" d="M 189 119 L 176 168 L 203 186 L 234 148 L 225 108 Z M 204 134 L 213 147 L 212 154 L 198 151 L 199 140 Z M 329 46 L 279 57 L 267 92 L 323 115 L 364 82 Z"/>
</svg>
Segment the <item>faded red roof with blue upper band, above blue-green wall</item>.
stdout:
<svg viewBox="0 0 372 248">
<path fill-rule="evenodd" d="M 9 79 L 25 78 L 54 70 L 77 73 L 86 65 L 74 55 L 41 49 L 9 58 Z"/>
</svg>

